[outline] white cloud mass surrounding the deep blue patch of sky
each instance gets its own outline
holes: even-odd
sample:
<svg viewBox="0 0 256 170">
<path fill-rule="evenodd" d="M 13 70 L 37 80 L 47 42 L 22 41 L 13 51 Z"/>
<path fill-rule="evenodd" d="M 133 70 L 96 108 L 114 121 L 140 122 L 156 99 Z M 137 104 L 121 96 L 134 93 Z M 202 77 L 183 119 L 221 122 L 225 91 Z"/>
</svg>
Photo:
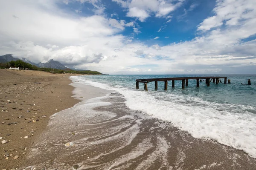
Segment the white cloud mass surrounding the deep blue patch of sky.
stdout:
<svg viewBox="0 0 256 170">
<path fill-rule="evenodd" d="M 131 6 L 131 1 L 115 1 L 126 9 L 145 9 L 150 15 L 159 12 L 159 1 L 152 0 L 157 6 L 151 6 L 154 2 L 146 5 L 137 2 Z M 57 2 L 60 1 L 0 1 L 0 53 L 35 63 L 53 58 L 66 66 L 108 74 L 141 74 L 152 69 L 134 66 L 138 63 L 156 64 L 155 74 L 226 74 L 227 70 L 235 74 L 237 68 L 242 68 L 239 73 L 256 72 L 256 40 L 246 40 L 256 35 L 254 0 L 217 1 L 213 16 L 198 25 L 198 37 L 164 46 L 148 46 L 122 35 L 127 26 L 140 32 L 134 22 L 112 20 L 105 15 L 67 14 Z"/>
</svg>

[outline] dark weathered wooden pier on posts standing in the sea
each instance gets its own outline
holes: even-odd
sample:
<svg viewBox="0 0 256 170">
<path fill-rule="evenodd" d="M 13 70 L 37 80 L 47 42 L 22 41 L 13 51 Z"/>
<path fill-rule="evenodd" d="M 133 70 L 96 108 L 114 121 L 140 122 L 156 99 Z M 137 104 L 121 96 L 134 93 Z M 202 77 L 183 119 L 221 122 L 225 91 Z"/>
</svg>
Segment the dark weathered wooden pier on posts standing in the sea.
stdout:
<svg viewBox="0 0 256 170">
<path fill-rule="evenodd" d="M 221 78 L 224 79 L 224 84 L 227 84 L 227 77 L 179 77 L 179 78 L 149 78 L 149 79 L 137 79 L 136 80 L 136 89 L 139 89 L 139 83 L 144 83 L 144 90 L 148 90 L 148 83 L 154 81 L 155 89 L 158 88 L 158 81 L 164 82 L 164 90 L 167 90 L 168 81 L 172 81 L 172 88 L 175 87 L 175 81 L 182 81 L 181 88 L 184 89 L 185 86 L 189 85 L 189 80 L 196 80 L 196 86 L 199 87 L 199 82 L 205 79 L 205 84 L 210 86 L 210 82 L 213 83 L 222 83 Z"/>
</svg>

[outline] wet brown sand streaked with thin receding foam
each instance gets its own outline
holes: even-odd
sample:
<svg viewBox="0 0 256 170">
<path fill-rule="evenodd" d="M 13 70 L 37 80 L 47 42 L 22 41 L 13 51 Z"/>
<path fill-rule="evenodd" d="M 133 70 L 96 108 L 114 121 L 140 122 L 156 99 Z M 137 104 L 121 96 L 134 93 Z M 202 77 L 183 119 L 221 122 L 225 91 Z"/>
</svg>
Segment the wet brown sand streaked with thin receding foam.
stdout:
<svg viewBox="0 0 256 170">
<path fill-rule="evenodd" d="M 78 83 L 76 97 L 84 101 L 51 116 L 26 170 L 255 170 L 256 159 L 241 150 L 193 138 L 128 109 L 119 93 Z"/>
</svg>

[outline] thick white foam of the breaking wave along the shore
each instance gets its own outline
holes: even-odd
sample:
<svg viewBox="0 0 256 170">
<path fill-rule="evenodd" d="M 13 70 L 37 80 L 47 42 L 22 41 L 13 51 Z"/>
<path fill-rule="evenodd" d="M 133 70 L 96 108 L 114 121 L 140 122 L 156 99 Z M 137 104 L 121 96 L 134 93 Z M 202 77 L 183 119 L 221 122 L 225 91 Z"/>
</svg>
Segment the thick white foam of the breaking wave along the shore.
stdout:
<svg viewBox="0 0 256 170">
<path fill-rule="evenodd" d="M 73 77 L 74 78 L 74 77 Z M 248 110 L 255 107 L 239 104 L 219 104 L 203 101 L 201 98 L 184 98 L 182 95 L 168 95 L 175 100 L 161 99 L 153 93 L 113 88 L 107 84 L 76 77 L 81 84 L 114 90 L 126 99 L 130 109 L 140 110 L 155 118 L 171 121 L 180 130 L 186 130 L 195 138 L 207 138 L 244 150 L 256 158 L 256 115 Z M 166 97 L 166 96 L 165 96 Z M 160 98 L 160 99 L 159 99 Z"/>
</svg>

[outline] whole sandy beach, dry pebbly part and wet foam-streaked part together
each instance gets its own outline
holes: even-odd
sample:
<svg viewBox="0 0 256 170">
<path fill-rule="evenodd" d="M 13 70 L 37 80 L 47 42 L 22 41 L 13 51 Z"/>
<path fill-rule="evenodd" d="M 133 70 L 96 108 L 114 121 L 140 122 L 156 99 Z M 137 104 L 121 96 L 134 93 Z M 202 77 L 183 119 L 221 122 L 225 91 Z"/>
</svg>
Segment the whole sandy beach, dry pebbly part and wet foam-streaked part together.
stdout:
<svg viewBox="0 0 256 170">
<path fill-rule="evenodd" d="M 0 169 L 256 167 L 256 159 L 242 150 L 193 138 L 172 122 L 129 109 L 118 92 L 86 85 L 75 77 L 70 86 L 70 75 L 1 70 L 0 76 L 1 122 L 5 122 L 0 137 L 8 141 L 0 144 Z"/>
</svg>

